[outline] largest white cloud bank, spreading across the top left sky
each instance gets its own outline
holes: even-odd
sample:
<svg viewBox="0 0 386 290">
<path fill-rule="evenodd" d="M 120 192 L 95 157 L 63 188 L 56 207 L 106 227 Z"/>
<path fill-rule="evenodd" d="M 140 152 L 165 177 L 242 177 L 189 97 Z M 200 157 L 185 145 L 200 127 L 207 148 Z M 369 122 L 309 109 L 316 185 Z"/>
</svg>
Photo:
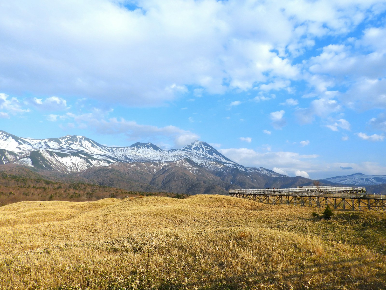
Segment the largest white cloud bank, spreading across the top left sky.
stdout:
<svg viewBox="0 0 386 290">
<path fill-rule="evenodd" d="M 189 85 L 281 89 L 301 77 L 294 57 L 347 35 L 375 3 L 139 0 L 130 11 L 122 1 L 14 1 L 0 19 L 2 87 L 142 106 Z M 362 45 L 381 49 L 382 36 L 367 29 Z"/>
</svg>

